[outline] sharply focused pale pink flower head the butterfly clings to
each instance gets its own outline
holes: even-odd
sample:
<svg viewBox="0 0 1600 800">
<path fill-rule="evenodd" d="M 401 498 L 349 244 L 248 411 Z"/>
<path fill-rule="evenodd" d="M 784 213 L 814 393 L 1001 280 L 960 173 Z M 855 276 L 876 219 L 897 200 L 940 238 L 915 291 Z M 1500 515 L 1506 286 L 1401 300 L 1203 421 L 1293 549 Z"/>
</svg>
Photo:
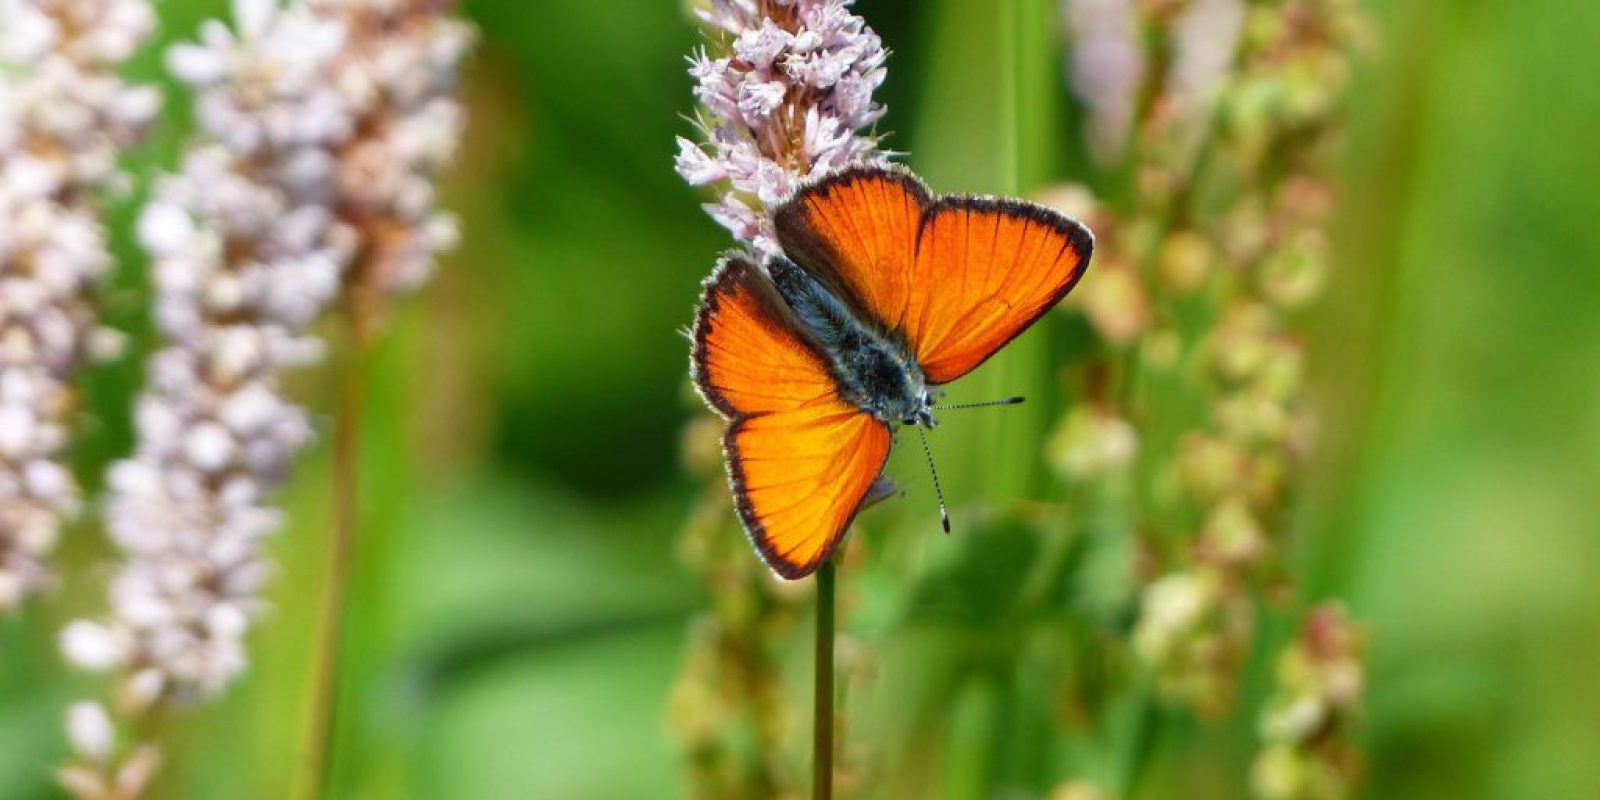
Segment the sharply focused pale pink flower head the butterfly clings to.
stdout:
<svg viewBox="0 0 1600 800">
<path fill-rule="evenodd" d="M 678 138 L 678 174 L 722 186 L 706 210 L 762 253 L 776 250 L 766 210 L 806 178 L 882 160 L 867 133 L 888 51 L 853 0 L 710 0 L 699 10 L 728 51 L 690 59 L 704 142 Z"/>
</svg>

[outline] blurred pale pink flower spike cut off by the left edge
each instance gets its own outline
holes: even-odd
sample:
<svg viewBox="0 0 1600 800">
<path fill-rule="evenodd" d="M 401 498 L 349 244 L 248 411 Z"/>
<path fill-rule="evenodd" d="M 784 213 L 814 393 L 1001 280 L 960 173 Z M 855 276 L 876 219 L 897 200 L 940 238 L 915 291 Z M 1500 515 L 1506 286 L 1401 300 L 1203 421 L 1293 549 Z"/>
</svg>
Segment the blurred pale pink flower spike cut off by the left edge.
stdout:
<svg viewBox="0 0 1600 800">
<path fill-rule="evenodd" d="M 96 200 L 160 106 L 117 77 L 154 24 L 146 0 L 0 0 L 0 611 L 48 582 L 78 506 L 70 381 L 120 342 L 94 314 Z"/>
</svg>

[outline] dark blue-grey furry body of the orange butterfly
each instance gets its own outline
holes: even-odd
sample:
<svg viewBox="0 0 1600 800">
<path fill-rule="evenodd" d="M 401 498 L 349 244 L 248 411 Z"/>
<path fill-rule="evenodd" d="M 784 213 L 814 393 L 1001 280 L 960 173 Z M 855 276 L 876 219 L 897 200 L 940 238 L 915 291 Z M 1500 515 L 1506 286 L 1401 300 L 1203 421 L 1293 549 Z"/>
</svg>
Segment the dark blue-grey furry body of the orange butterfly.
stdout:
<svg viewBox="0 0 1600 800">
<path fill-rule="evenodd" d="M 885 422 L 934 426 L 928 381 L 899 336 L 862 320 L 792 261 L 776 258 L 766 269 L 827 357 L 840 398 Z"/>
</svg>

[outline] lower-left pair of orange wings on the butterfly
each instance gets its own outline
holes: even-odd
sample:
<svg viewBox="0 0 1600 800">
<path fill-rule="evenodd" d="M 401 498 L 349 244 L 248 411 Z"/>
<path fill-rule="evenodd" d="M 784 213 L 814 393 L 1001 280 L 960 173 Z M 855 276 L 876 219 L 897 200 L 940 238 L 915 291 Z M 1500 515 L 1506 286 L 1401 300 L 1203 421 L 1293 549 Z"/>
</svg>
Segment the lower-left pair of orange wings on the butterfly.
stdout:
<svg viewBox="0 0 1600 800">
<path fill-rule="evenodd" d="M 706 282 L 693 374 L 731 421 L 723 450 L 750 542 L 779 576 L 811 574 L 883 470 L 888 426 L 838 398 L 822 357 L 742 258 Z"/>
</svg>

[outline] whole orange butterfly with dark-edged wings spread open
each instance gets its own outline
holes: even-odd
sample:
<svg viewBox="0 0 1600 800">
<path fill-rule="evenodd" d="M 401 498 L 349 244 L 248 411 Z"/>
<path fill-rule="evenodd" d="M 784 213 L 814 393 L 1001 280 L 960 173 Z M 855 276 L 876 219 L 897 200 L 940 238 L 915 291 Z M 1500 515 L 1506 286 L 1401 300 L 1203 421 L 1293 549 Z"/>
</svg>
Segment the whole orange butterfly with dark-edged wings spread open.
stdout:
<svg viewBox="0 0 1600 800">
<path fill-rule="evenodd" d="M 931 387 L 1059 302 L 1094 237 L 1032 203 L 934 198 L 910 171 L 877 166 L 802 189 L 774 222 L 787 258 L 762 269 L 731 254 L 706 280 L 691 368 L 730 422 L 739 520 L 766 565 L 797 579 L 872 493 L 891 426 L 933 427 Z"/>
</svg>

